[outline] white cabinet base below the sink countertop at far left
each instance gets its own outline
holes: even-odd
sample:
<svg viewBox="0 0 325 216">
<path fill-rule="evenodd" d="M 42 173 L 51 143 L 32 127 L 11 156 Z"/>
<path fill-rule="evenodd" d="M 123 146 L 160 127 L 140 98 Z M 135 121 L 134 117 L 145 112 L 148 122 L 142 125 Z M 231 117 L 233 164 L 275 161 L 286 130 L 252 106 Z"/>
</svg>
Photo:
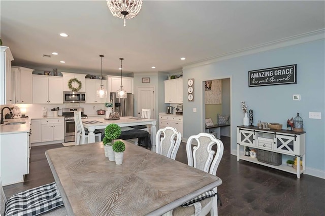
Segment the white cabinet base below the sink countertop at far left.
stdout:
<svg viewBox="0 0 325 216">
<path fill-rule="evenodd" d="M 28 133 L 0 136 L 0 176 L 4 186 L 24 181 L 29 172 Z"/>
</svg>

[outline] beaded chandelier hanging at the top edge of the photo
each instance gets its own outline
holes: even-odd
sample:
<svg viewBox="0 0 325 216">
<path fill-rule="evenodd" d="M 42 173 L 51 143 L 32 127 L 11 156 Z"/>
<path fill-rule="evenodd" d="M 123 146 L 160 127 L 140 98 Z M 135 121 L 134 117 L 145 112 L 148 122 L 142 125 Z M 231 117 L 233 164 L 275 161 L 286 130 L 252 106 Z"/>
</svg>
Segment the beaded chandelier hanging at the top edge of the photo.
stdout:
<svg viewBox="0 0 325 216">
<path fill-rule="evenodd" d="M 106 0 L 107 6 L 115 17 L 125 20 L 137 16 L 141 10 L 142 0 Z"/>
</svg>

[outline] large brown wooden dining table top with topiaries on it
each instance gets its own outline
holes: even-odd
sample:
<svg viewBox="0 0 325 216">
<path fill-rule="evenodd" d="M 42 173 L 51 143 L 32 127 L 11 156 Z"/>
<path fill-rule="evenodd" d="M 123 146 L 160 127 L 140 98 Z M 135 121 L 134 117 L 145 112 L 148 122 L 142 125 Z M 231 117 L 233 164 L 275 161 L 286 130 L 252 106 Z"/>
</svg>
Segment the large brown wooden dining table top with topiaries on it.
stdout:
<svg viewBox="0 0 325 216">
<path fill-rule="evenodd" d="M 47 150 L 68 215 L 162 215 L 222 184 L 219 177 L 125 143 L 123 163 L 102 142 Z"/>
</svg>

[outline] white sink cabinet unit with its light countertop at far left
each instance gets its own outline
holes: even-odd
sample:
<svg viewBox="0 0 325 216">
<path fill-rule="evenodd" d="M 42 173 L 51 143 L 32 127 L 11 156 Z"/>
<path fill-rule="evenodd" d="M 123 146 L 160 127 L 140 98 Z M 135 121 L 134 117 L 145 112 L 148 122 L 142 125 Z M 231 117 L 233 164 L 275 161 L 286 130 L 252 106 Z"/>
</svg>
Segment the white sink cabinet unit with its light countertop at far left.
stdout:
<svg viewBox="0 0 325 216">
<path fill-rule="evenodd" d="M 0 176 L 4 186 L 23 182 L 29 173 L 29 128 L 28 118 L 6 119 L 0 125 Z"/>
</svg>

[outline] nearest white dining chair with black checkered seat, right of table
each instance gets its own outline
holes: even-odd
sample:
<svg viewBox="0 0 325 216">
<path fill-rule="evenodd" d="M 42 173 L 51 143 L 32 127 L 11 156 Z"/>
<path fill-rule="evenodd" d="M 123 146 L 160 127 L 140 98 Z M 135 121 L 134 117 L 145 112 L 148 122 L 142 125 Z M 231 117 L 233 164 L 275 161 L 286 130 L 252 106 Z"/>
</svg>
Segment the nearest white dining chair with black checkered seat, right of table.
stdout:
<svg viewBox="0 0 325 216">
<path fill-rule="evenodd" d="M 192 147 L 192 143 L 195 142 Z M 217 151 L 212 147 L 217 146 Z M 192 150 L 193 149 L 193 150 Z M 215 175 L 223 155 L 223 143 L 209 133 L 192 135 L 186 142 L 187 164 L 212 175 Z M 218 194 L 214 188 L 215 196 L 195 202 L 187 207 L 179 206 L 169 212 L 169 215 L 218 215 Z M 201 211 L 201 212 L 200 212 Z M 200 213 L 199 213 L 200 212 Z"/>
</svg>

